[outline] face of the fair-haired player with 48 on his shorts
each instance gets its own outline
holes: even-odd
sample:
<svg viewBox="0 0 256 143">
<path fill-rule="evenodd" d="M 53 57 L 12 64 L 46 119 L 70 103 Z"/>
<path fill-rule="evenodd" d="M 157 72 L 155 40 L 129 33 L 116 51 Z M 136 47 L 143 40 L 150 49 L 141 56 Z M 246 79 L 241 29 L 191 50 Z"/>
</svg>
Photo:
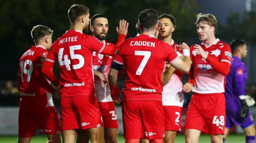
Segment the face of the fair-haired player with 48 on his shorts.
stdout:
<svg viewBox="0 0 256 143">
<path fill-rule="evenodd" d="M 215 28 L 208 25 L 204 21 L 198 22 L 198 24 L 196 24 L 196 28 L 197 28 L 197 34 L 198 34 L 200 41 L 206 41 L 207 39 L 209 39 L 209 37 L 214 35 Z"/>
</svg>

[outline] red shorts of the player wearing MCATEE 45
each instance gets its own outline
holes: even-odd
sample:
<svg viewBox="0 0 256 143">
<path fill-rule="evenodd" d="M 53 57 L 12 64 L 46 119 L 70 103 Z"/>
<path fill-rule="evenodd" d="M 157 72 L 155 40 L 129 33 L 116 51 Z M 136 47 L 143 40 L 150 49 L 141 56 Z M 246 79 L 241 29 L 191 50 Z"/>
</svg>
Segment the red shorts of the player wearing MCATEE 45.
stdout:
<svg viewBox="0 0 256 143">
<path fill-rule="evenodd" d="M 102 127 L 102 117 L 95 96 L 60 98 L 61 130 Z"/>
</svg>

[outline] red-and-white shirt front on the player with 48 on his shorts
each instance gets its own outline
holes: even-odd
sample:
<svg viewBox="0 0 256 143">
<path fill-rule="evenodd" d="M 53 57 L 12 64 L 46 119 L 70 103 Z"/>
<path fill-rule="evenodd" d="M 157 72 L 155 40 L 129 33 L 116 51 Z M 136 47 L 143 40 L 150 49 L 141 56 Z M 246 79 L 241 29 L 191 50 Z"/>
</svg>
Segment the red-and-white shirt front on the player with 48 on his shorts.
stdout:
<svg viewBox="0 0 256 143">
<path fill-rule="evenodd" d="M 209 57 L 218 62 L 230 65 L 232 54 L 228 44 L 216 39 L 211 45 L 199 44 Z M 194 88 L 193 92 L 199 94 L 223 93 L 225 91 L 225 76 L 217 72 L 207 60 L 190 47 L 190 59 L 193 67 Z M 224 67 L 220 67 L 223 68 Z"/>
</svg>

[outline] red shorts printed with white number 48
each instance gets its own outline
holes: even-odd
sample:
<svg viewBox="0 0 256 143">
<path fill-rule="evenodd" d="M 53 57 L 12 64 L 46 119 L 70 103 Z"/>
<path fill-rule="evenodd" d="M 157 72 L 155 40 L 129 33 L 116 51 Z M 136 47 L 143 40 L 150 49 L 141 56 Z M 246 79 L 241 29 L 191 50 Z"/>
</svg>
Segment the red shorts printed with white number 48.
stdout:
<svg viewBox="0 0 256 143">
<path fill-rule="evenodd" d="M 184 129 L 197 129 L 207 134 L 224 134 L 226 102 L 223 93 L 196 94 L 188 104 Z"/>
</svg>

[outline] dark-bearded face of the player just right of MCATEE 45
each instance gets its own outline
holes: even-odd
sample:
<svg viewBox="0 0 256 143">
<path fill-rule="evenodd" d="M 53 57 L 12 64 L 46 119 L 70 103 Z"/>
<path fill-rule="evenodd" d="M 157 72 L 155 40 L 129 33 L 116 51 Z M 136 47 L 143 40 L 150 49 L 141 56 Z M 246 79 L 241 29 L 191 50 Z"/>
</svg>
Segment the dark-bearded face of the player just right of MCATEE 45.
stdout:
<svg viewBox="0 0 256 143">
<path fill-rule="evenodd" d="M 105 40 L 108 33 L 108 20 L 106 18 L 96 18 L 94 25 L 90 27 L 92 35 L 100 40 Z"/>
</svg>

